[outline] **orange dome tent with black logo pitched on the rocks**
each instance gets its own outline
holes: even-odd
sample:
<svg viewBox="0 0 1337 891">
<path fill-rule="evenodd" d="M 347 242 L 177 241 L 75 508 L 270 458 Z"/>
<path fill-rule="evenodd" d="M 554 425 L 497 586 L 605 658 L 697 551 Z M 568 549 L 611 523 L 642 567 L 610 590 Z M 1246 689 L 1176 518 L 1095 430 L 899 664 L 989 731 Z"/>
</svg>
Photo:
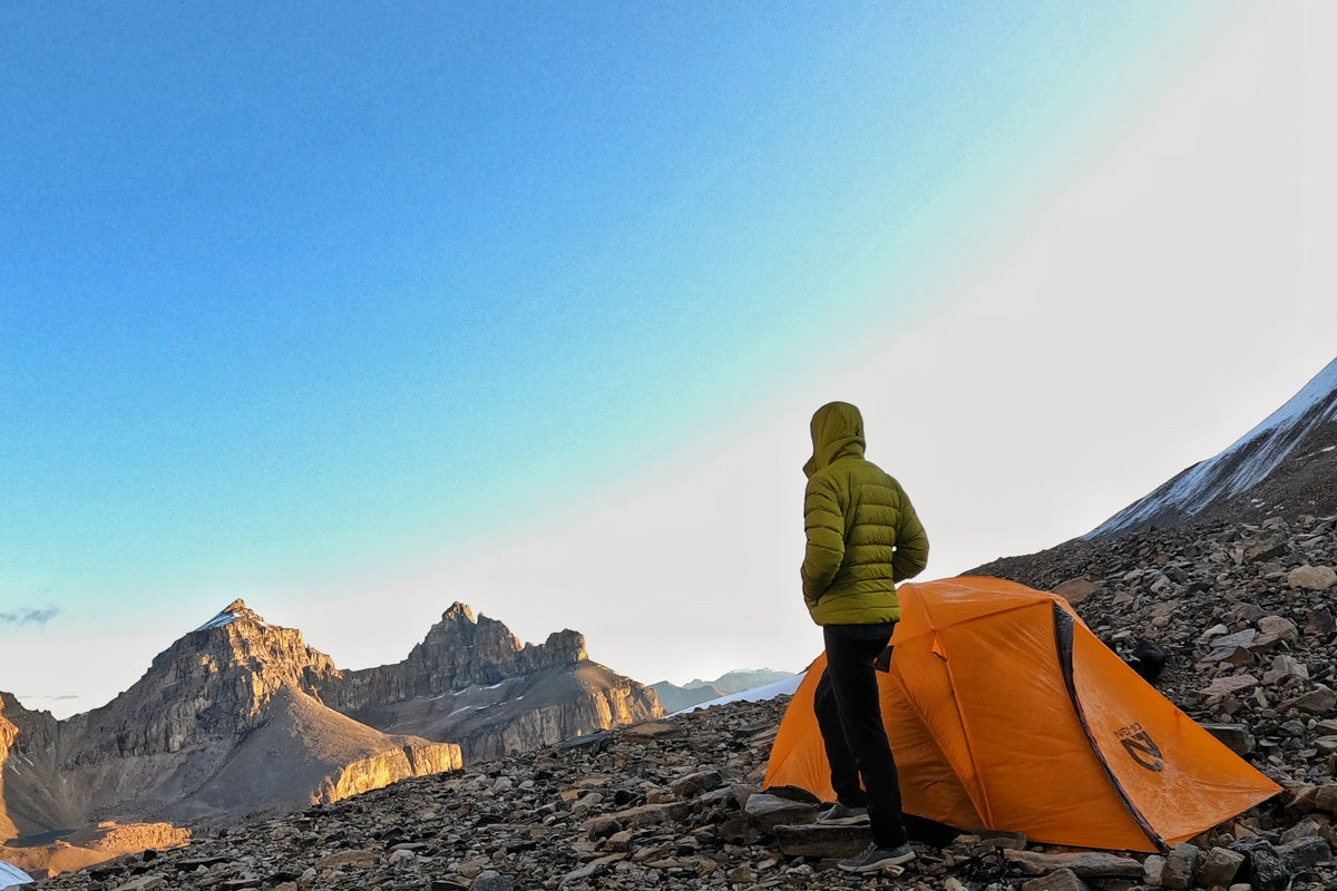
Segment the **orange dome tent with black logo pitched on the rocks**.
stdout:
<svg viewBox="0 0 1337 891">
<path fill-rule="evenodd" d="M 997 578 L 900 586 L 882 720 L 906 814 L 1072 847 L 1165 851 L 1280 791 L 1102 644 L 1066 600 Z M 813 691 L 766 785 L 834 799 Z"/>
</svg>

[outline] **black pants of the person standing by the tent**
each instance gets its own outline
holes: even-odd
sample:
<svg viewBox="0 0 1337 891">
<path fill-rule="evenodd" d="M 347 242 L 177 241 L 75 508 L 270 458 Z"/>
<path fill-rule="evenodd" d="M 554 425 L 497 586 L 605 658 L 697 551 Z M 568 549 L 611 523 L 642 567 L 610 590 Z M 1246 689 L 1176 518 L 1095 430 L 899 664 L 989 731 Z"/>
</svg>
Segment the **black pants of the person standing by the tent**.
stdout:
<svg viewBox="0 0 1337 891">
<path fill-rule="evenodd" d="M 826 671 L 817 681 L 813 711 L 832 765 L 832 787 L 846 807 L 866 807 L 881 848 L 905 843 L 901 784 L 882 725 L 873 660 L 886 637 L 848 637 L 824 628 Z M 864 779 L 862 787 L 860 777 Z"/>
</svg>

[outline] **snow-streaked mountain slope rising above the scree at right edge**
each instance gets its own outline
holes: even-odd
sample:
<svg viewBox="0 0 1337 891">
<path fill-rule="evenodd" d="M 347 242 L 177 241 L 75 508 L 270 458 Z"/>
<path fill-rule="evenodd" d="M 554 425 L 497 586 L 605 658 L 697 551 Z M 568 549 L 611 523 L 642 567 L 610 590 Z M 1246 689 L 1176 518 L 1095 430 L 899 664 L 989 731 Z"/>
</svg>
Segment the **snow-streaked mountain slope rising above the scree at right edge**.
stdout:
<svg viewBox="0 0 1337 891">
<path fill-rule="evenodd" d="M 1193 465 L 1084 537 L 1175 525 L 1239 498 L 1253 506 L 1275 498 L 1302 506 L 1306 494 L 1326 496 L 1324 484 L 1334 478 L 1302 466 L 1306 462 L 1337 469 L 1337 359 L 1229 449 Z"/>
</svg>

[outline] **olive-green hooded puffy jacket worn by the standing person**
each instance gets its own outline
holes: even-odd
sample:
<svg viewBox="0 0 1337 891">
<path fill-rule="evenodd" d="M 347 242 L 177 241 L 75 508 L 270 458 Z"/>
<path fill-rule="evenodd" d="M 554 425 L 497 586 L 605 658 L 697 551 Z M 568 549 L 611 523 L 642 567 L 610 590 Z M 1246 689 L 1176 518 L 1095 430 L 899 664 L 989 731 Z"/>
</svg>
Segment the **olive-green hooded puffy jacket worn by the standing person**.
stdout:
<svg viewBox="0 0 1337 891">
<path fill-rule="evenodd" d="M 928 562 L 928 536 L 894 478 L 864 458 L 864 418 L 846 402 L 813 415 L 804 465 L 804 600 L 818 625 L 898 621 L 896 582 Z"/>
</svg>

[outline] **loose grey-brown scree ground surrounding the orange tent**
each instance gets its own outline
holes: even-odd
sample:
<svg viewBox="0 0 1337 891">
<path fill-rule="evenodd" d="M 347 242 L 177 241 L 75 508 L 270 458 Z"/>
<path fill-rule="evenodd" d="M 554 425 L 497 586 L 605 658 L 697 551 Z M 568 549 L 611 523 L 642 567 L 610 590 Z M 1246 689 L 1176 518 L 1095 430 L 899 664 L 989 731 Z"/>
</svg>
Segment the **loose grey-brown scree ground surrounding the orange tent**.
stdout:
<svg viewBox="0 0 1337 891">
<path fill-rule="evenodd" d="M 147 851 L 37 888 L 1337 888 L 1337 517 L 1070 542 L 979 572 L 1066 590 L 1111 647 L 1162 647 L 1162 692 L 1286 791 L 1167 856 L 995 834 L 916 843 L 852 876 L 858 830 L 790 832 L 812 803 L 761 793 L 785 700 L 738 703 L 406 780 Z"/>
</svg>

